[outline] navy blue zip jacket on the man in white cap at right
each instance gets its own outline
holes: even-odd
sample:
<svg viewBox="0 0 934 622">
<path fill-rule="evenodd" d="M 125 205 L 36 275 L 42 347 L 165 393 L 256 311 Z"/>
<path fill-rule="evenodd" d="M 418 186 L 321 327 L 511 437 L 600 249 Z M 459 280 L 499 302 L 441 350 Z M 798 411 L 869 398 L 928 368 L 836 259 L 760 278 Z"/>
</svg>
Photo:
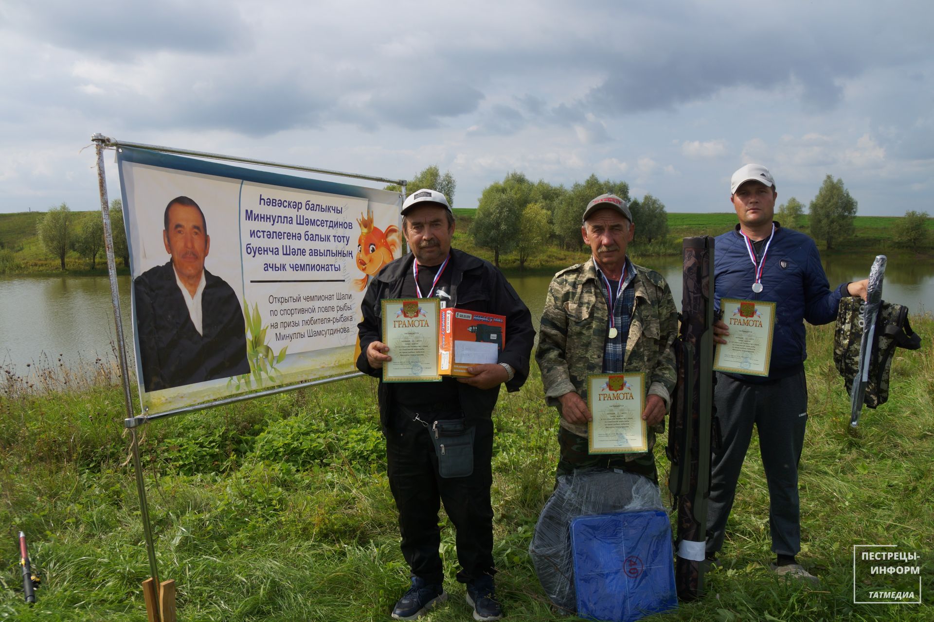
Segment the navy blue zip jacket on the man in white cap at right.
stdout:
<svg viewBox="0 0 934 622">
<path fill-rule="evenodd" d="M 782 228 L 777 222 L 762 269 L 760 293 L 752 290 L 756 269 L 746 251 L 739 225 L 716 237 L 714 275 L 717 311 L 720 311 L 720 298 L 776 303 L 768 380 L 798 372 L 808 357 L 802 320 L 813 325 L 833 322 L 837 319 L 840 298 L 849 295 L 845 289 L 849 283 L 830 290 L 814 240 L 799 231 Z M 748 382 L 767 381 L 756 376 L 733 377 Z"/>
</svg>

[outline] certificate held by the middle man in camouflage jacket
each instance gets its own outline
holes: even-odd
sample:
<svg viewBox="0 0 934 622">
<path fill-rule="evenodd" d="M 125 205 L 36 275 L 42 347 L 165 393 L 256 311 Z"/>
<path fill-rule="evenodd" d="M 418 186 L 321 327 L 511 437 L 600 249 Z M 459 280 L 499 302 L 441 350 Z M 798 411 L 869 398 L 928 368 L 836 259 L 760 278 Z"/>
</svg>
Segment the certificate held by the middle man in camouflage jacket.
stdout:
<svg viewBox="0 0 934 622">
<path fill-rule="evenodd" d="M 645 409 L 645 374 L 590 374 L 587 376 L 587 453 L 640 453 L 648 451 L 642 418 Z"/>
</svg>

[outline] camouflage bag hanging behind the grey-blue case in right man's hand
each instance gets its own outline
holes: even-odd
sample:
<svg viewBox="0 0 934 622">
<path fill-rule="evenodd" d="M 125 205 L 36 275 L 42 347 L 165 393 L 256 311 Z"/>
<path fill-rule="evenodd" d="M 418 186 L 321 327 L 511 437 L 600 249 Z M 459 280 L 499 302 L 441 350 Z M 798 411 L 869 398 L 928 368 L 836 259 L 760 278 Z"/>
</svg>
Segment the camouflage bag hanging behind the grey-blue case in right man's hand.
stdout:
<svg viewBox="0 0 934 622">
<path fill-rule="evenodd" d="M 837 311 L 837 325 L 833 336 L 833 362 L 846 384 L 846 392 L 853 389 L 859 373 L 860 341 L 863 337 L 863 305 L 858 297 L 844 297 Z M 876 408 L 888 399 L 888 376 L 895 358 L 895 349 L 918 350 L 921 337 L 912 330 L 908 321 L 908 307 L 892 302 L 882 303 L 876 316 L 869 360 L 869 378 L 864 404 Z"/>
</svg>

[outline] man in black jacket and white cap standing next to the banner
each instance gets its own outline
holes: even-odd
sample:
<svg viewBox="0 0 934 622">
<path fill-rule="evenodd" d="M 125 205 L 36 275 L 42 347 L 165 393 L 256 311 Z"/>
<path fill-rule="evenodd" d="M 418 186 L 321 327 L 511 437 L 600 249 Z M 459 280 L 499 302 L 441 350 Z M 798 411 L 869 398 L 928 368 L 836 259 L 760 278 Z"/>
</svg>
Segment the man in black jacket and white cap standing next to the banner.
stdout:
<svg viewBox="0 0 934 622">
<path fill-rule="evenodd" d="M 438 554 L 438 509 L 444 501 L 457 529 L 461 566 L 457 578 L 467 584 L 474 619 L 496 620 L 502 610 L 493 586 L 490 416 L 500 385 L 517 391 L 529 375 L 535 335 L 531 313 L 499 270 L 451 248 L 454 214 L 442 193 L 418 190 L 405 200 L 402 214 L 403 233 L 412 252 L 390 263 L 367 289 L 357 367 L 380 377 L 383 364 L 391 359 L 392 352 L 382 342 L 380 300 L 384 298 L 439 297 L 447 307 L 504 315 L 506 336 L 499 362 L 473 366 L 470 378 L 379 383 L 389 487 L 399 509 L 403 556 L 412 574 L 411 587 L 396 603 L 392 617 L 414 619 L 446 599 Z M 466 477 L 441 477 L 427 426 L 460 418 L 474 427 L 474 470 Z"/>
</svg>

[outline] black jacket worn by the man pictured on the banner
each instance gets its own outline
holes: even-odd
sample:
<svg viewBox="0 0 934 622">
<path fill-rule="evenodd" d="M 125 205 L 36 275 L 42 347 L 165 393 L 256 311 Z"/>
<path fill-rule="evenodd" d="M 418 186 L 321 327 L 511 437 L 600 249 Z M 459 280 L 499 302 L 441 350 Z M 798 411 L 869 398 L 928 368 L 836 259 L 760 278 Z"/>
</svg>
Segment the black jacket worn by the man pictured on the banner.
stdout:
<svg viewBox="0 0 934 622">
<path fill-rule="evenodd" d="M 200 335 L 191 324 L 171 261 L 140 274 L 133 287 L 147 392 L 249 373 L 243 311 L 223 279 L 205 270 Z"/>
</svg>

